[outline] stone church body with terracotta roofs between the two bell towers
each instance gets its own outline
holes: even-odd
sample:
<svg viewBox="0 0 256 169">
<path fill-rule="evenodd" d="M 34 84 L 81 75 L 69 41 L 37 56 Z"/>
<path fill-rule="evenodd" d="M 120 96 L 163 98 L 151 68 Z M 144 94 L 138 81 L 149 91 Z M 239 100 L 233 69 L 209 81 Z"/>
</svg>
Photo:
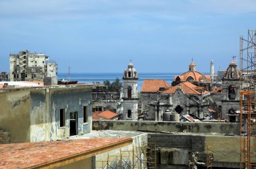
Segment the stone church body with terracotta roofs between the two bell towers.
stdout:
<svg viewBox="0 0 256 169">
<path fill-rule="evenodd" d="M 145 120 L 162 121 L 166 111 L 194 114 L 199 118 L 210 114 L 210 92 L 189 81 L 169 86 L 162 79 L 145 79 L 140 101 Z"/>
</svg>

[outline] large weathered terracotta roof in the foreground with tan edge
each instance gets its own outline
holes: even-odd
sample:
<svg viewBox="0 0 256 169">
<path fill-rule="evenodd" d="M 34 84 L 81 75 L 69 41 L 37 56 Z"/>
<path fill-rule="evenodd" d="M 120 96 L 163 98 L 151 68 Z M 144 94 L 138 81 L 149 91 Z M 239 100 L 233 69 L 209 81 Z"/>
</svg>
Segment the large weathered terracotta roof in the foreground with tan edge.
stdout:
<svg viewBox="0 0 256 169">
<path fill-rule="evenodd" d="M 0 146 L 0 168 L 53 168 L 132 143 L 131 138 L 73 139 Z"/>
</svg>

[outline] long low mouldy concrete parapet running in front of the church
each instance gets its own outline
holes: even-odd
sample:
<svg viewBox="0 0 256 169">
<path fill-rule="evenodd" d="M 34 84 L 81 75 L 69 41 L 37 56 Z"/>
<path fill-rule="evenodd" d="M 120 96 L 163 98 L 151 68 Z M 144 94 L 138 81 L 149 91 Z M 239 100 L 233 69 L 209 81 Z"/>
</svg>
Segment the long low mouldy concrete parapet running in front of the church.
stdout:
<svg viewBox="0 0 256 169">
<path fill-rule="evenodd" d="M 93 121 L 94 130 L 123 130 L 145 132 L 190 132 L 239 134 L 239 123 L 191 123 L 154 121 Z"/>
</svg>

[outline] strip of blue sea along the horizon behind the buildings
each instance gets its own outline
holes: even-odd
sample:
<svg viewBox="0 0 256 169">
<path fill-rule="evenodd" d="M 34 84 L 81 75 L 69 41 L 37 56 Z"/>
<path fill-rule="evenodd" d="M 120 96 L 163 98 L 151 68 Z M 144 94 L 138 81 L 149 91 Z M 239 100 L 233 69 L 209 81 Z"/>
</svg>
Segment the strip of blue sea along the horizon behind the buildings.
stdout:
<svg viewBox="0 0 256 169">
<path fill-rule="evenodd" d="M 138 73 L 138 90 L 141 91 L 143 79 L 164 79 L 171 84 L 175 75 L 181 75 L 181 73 Z M 123 73 L 70 73 L 69 77 L 67 73 L 58 73 L 59 80 L 77 80 L 78 83 L 92 83 L 95 81 L 102 83 L 104 80 L 113 82 L 117 77 L 123 81 Z"/>
</svg>

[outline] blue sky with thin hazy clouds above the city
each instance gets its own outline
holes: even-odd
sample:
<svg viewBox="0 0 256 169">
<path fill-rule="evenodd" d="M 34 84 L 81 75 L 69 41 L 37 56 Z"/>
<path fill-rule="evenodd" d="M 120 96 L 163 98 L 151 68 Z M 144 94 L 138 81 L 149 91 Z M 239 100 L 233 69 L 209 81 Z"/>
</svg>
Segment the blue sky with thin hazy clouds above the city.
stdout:
<svg viewBox="0 0 256 169">
<path fill-rule="evenodd" d="M 45 53 L 59 73 L 197 71 L 239 63 L 255 0 L 0 0 L 0 71 L 9 54 Z"/>
</svg>

